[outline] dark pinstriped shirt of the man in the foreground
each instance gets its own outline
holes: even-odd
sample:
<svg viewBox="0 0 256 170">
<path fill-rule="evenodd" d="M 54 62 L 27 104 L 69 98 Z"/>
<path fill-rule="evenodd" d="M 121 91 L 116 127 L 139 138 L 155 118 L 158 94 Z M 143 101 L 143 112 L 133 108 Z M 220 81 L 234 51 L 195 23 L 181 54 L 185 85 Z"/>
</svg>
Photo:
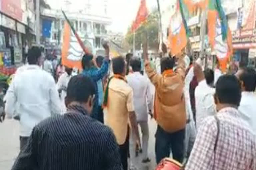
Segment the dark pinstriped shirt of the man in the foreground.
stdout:
<svg viewBox="0 0 256 170">
<path fill-rule="evenodd" d="M 122 170 L 119 147 L 110 128 L 80 106 L 35 126 L 12 170 Z"/>
</svg>

